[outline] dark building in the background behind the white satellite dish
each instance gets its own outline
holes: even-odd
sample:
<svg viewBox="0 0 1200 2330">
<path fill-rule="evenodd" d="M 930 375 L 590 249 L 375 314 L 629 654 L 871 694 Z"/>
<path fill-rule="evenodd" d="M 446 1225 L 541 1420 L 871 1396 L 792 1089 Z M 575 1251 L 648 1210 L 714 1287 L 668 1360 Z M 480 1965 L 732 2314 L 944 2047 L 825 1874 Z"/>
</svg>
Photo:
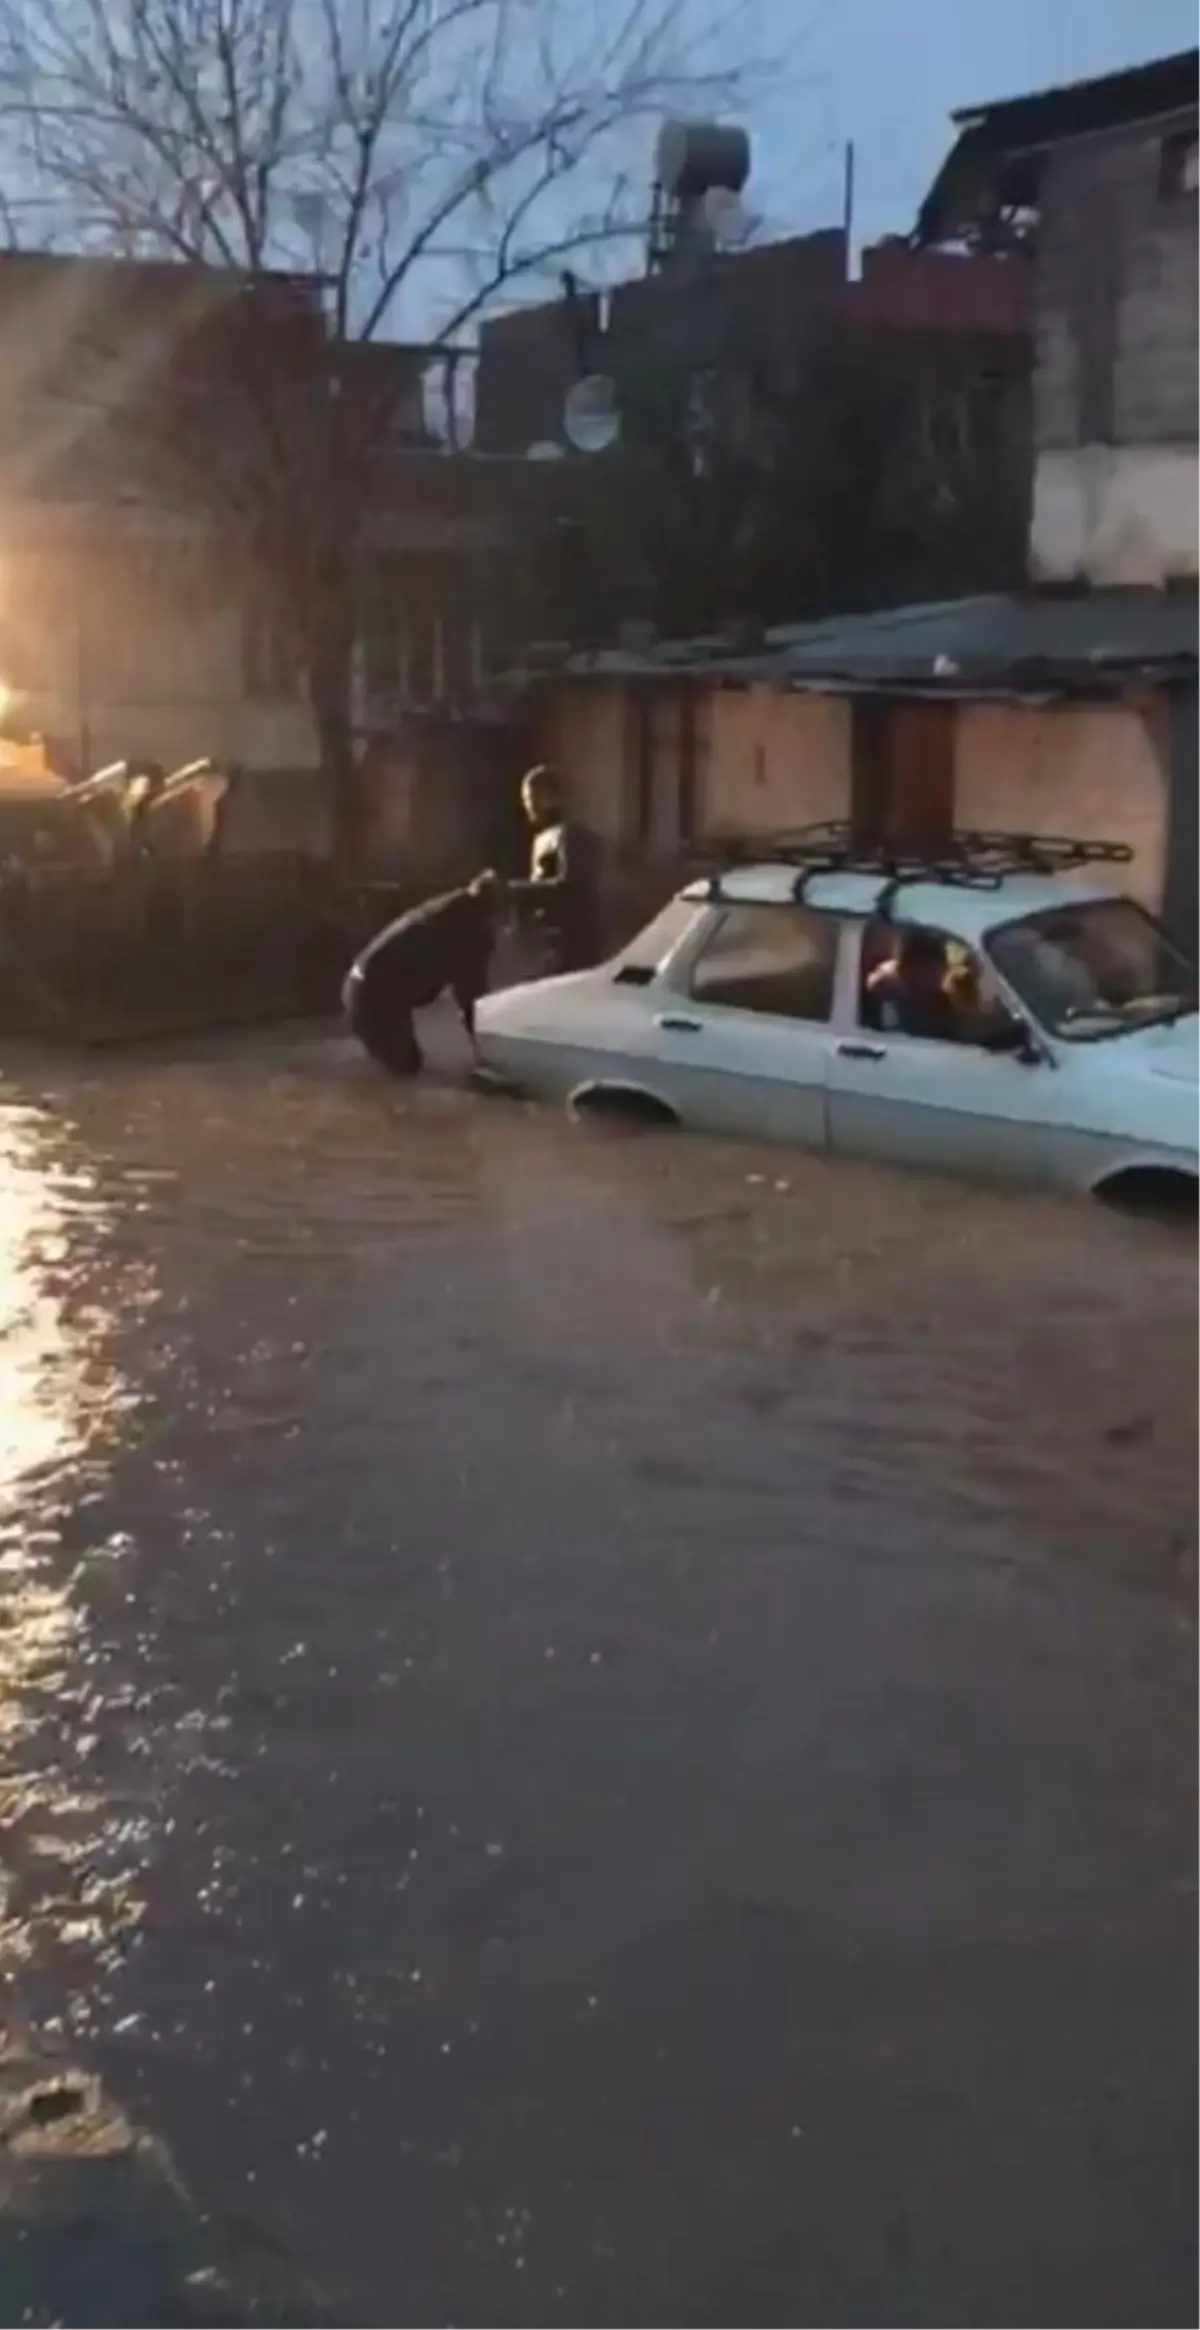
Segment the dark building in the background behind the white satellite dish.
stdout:
<svg viewBox="0 0 1200 2330">
<path fill-rule="evenodd" d="M 1025 294 L 1021 266 L 902 242 L 855 273 L 827 228 L 487 322 L 478 445 L 557 468 L 578 548 L 564 629 L 594 641 L 638 617 L 669 634 L 1011 585 Z M 566 419 L 590 373 L 620 410 L 603 452 L 578 452 Z"/>
</svg>

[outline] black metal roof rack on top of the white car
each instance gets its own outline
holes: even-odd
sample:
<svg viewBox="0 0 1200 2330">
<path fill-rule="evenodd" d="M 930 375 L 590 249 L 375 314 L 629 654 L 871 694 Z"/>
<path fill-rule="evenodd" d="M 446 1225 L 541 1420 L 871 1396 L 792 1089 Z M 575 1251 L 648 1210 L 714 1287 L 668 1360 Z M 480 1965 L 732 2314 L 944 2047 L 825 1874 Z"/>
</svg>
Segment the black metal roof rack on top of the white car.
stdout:
<svg viewBox="0 0 1200 2330">
<path fill-rule="evenodd" d="M 848 820 L 799 825 L 792 832 L 743 834 L 699 841 L 690 853 L 708 869 L 708 899 L 725 892 L 720 876 L 736 867 L 795 867 L 792 897 L 804 899 L 820 874 L 869 874 L 883 883 L 876 913 L 885 916 L 897 890 L 909 883 L 941 883 L 953 890 L 1000 890 L 1009 874 L 1077 874 L 1081 867 L 1128 867 L 1128 841 L 1083 841 L 1072 834 L 1009 834 L 967 827 L 930 850 L 892 848 L 855 836 Z"/>
</svg>

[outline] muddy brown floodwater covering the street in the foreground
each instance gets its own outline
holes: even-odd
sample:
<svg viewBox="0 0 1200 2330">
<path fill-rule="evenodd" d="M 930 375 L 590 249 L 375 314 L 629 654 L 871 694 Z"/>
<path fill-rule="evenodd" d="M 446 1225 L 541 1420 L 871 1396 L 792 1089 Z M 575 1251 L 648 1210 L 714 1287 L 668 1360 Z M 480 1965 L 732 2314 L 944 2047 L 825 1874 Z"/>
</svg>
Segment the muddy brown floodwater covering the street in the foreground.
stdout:
<svg viewBox="0 0 1200 2330">
<path fill-rule="evenodd" d="M 1195 1235 L 305 1035 L 0 1144 L 2 2330 L 1193 2330 Z"/>
</svg>

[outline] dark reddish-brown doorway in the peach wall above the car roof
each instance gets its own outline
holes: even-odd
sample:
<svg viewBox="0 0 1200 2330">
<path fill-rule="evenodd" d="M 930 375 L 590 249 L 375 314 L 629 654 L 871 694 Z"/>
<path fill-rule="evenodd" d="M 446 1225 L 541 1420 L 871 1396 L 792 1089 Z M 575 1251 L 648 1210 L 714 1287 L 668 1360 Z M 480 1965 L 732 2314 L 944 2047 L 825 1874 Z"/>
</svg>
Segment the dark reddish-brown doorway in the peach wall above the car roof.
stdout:
<svg viewBox="0 0 1200 2330">
<path fill-rule="evenodd" d="M 953 832 L 953 704 L 855 697 L 850 820 L 860 848 L 937 850 Z"/>
</svg>

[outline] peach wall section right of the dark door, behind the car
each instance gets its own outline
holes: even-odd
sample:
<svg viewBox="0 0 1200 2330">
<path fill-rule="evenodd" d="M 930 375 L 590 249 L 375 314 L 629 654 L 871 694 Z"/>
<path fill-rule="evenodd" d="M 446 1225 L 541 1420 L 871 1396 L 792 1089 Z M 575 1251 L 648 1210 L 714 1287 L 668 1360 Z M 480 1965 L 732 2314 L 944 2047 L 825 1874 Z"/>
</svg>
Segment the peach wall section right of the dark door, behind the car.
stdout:
<svg viewBox="0 0 1200 2330">
<path fill-rule="evenodd" d="M 967 704 L 958 715 L 955 822 L 1028 834 L 1128 841 L 1121 871 L 1146 906 L 1163 899 L 1165 734 L 1132 706 Z"/>
</svg>

